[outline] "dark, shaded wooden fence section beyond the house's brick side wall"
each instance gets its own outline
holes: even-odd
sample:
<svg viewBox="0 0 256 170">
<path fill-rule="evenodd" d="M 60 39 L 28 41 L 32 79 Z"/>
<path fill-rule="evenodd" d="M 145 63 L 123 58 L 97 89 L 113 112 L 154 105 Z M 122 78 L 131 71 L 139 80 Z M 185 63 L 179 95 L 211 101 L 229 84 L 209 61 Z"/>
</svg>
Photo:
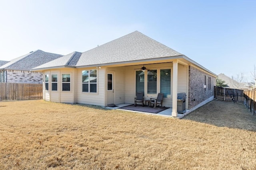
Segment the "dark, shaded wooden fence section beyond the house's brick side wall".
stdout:
<svg viewBox="0 0 256 170">
<path fill-rule="evenodd" d="M 244 103 L 244 90 L 214 86 L 214 98 L 228 102 Z"/>
</svg>

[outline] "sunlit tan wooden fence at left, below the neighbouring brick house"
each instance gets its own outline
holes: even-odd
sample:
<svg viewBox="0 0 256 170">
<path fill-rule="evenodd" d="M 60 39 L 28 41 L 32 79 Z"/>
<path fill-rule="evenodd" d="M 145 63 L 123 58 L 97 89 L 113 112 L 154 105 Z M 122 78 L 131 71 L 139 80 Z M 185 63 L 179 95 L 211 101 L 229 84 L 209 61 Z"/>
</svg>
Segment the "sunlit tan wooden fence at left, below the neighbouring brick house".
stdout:
<svg viewBox="0 0 256 170">
<path fill-rule="evenodd" d="M 0 101 L 42 99 L 42 84 L 0 83 Z"/>
</svg>

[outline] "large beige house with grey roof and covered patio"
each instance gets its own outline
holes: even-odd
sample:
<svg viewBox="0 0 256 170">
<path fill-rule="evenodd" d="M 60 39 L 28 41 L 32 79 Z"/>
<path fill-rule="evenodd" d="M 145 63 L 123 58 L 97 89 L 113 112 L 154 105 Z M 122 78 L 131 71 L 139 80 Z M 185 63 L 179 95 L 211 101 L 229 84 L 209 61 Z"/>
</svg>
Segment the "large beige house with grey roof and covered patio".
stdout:
<svg viewBox="0 0 256 170">
<path fill-rule="evenodd" d="M 43 72 L 43 99 L 98 106 L 134 103 L 164 93 L 177 116 L 177 93 L 190 111 L 214 99 L 217 75 L 185 55 L 135 31 L 84 53 L 73 52 L 32 71 Z"/>
</svg>

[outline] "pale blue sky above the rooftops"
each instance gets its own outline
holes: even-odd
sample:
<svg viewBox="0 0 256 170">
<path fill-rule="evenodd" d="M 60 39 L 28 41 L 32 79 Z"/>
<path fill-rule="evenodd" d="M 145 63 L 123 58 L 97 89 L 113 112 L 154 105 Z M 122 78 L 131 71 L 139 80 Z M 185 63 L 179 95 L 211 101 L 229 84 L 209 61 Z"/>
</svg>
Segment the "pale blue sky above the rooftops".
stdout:
<svg viewBox="0 0 256 170">
<path fill-rule="evenodd" d="M 255 9 L 255 0 L 0 0 L 0 60 L 84 52 L 137 30 L 215 74 L 251 81 Z"/>
</svg>

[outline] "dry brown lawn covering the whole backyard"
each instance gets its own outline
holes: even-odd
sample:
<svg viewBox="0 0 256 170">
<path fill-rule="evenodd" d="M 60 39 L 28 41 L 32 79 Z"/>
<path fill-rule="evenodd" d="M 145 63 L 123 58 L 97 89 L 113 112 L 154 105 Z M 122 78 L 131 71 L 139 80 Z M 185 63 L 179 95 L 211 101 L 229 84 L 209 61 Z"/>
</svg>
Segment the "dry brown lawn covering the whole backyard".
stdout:
<svg viewBox="0 0 256 170">
<path fill-rule="evenodd" d="M 253 170 L 256 117 L 222 101 L 184 119 L 43 100 L 0 102 L 0 169 Z"/>
</svg>

